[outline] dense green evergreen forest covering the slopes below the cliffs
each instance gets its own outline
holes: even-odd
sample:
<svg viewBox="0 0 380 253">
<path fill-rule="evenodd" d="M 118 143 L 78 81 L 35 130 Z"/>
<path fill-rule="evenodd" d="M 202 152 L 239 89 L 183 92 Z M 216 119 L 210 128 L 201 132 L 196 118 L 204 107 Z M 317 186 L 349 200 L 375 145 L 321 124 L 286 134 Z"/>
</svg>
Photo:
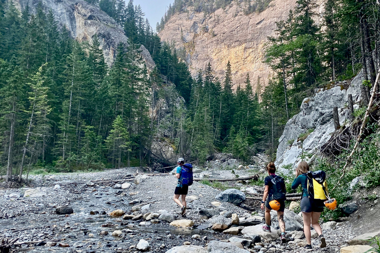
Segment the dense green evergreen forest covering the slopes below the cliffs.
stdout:
<svg viewBox="0 0 380 253">
<path fill-rule="evenodd" d="M 192 78 L 133 0 L 88 2 L 128 37 L 111 68 L 96 36 L 91 43 L 76 42 L 41 3 L 36 13 L 28 7 L 19 13 L 12 1 L 0 0 L 0 174 L 6 180 L 14 174 L 21 180 L 30 169 L 149 166 L 154 140 L 200 164 L 221 151 L 247 162 L 258 151 L 274 159 L 284 126 L 304 97 L 361 69 L 369 95 L 380 65 L 374 0 L 327 1 L 322 15 L 315 0 L 298 0 L 277 23 L 277 36 L 268 38 L 266 62 L 275 73 L 269 84 L 246 75 L 236 91 L 230 63 L 223 80 L 212 75 L 210 64 Z M 199 7 L 209 13 L 232 1 L 175 0 L 168 13 L 201 2 L 213 6 Z M 155 69 L 143 64 L 141 45 Z M 170 101 L 161 120 L 149 117 L 157 99 Z"/>
</svg>

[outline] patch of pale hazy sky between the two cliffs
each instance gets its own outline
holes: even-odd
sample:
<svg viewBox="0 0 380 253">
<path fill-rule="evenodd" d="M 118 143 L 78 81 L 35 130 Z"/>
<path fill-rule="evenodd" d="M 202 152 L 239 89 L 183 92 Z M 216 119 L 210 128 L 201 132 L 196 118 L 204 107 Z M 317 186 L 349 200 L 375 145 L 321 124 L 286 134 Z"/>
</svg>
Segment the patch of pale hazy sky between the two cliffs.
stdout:
<svg viewBox="0 0 380 253">
<path fill-rule="evenodd" d="M 125 0 L 128 4 L 129 0 Z M 145 18 L 149 20 L 150 26 L 153 31 L 156 31 L 156 24 L 160 22 L 161 17 L 164 16 L 165 10 L 168 8 L 169 3 L 174 0 L 134 0 L 134 5 L 141 5 L 142 11 L 145 13 Z"/>
</svg>

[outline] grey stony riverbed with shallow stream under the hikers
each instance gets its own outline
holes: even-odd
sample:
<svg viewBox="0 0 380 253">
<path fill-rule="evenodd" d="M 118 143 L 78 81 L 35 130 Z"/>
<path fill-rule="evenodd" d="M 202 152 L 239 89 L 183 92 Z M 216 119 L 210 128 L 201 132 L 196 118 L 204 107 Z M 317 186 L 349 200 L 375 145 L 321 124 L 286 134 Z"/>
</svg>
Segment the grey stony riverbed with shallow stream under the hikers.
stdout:
<svg viewBox="0 0 380 253">
<path fill-rule="evenodd" d="M 195 175 L 233 178 L 250 173 L 221 170 Z M 184 218 L 173 201 L 174 175 L 142 174 L 142 169 L 127 168 L 36 175 L 30 176 L 28 187 L 0 188 L 0 237 L 18 238 L 14 252 L 31 253 L 174 253 L 179 251 L 172 248 L 179 246 L 187 247 L 184 252 L 201 253 L 209 244 L 209 252 L 303 252 L 305 240 L 302 231 L 297 231 L 302 230 L 298 224 L 302 219 L 293 212 L 286 211 L 291 231 L 286 234 L 287 243 L 281 244 L 275 227 L 272 233 L 261 231 L 262 211 L 218 202 L 215 197 L 220 190 L 194 182 Z M 170 223 L 176 220 L 179 225 Z M 231 234 L 222 232 L 226 226 Z M 315 252 L 339 252 L 356 236 L 350 221 L 327 223 L 324 228 L 328 247 L 319 249 L 314 239 Z M 226 248 L 223 243 L 229 241 L 245 250 Z"/>
</svg>

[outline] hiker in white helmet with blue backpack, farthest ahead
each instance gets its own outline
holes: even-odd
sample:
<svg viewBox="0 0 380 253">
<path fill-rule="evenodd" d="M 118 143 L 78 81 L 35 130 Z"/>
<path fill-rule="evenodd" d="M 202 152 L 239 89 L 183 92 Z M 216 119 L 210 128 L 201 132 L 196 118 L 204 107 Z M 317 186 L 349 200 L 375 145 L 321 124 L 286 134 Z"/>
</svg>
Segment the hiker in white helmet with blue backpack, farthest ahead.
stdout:
<svg viewBox="0 0 380 253">
<path fill-rule="evenodd" d="M 186 195 L 189 191 L 189 186 L 192 185 L 192 165 L 185 164 L 185 159 L 182 157 L 178 158 L 178 166 L 176 167 L 176 177 L 178 179 L 176 189 L 174 191 L 174 201 L 181 208 L 181 215 L 185 216 L 186 213 Z M 181 195 L 181 201 L 179 197 Z"/>
</svg>

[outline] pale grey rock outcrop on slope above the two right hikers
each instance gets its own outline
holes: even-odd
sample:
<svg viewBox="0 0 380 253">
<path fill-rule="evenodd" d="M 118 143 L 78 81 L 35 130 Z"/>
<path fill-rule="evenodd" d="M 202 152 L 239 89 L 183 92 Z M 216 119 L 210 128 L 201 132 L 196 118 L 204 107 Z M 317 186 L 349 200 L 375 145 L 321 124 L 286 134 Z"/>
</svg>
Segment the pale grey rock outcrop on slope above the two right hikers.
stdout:
<svg viewBox="0 0 380 253">
<path fill-rule="evenodd" d="M 360 85 L 363 80 L 363 74 L 360 73 L 351 82 L 345 81 L 332 85 L 329 89 L 317 90 L 313 97 L 302 101 L 300 113 L 286 123 L 283 135 L 279 139 L 275 162 L 278 168 L 287 172 L 284 166 L 291 165 L 292 172 L 301 160 L 302 152 L 305 155 L 304 160 L 308 163 L 320 155 L 321 147 L 335 131 L 333 107 L 338 107 L 339 123 L 341 126 L 345 125 L 348 116 L 348 94 L 352 94 L 354 108 L 358 108 L 358 102 L 361 101 Z M 299 140 L 301 134 L 308 132 L 309 135 L 303 142 Z"/>
</svg>

